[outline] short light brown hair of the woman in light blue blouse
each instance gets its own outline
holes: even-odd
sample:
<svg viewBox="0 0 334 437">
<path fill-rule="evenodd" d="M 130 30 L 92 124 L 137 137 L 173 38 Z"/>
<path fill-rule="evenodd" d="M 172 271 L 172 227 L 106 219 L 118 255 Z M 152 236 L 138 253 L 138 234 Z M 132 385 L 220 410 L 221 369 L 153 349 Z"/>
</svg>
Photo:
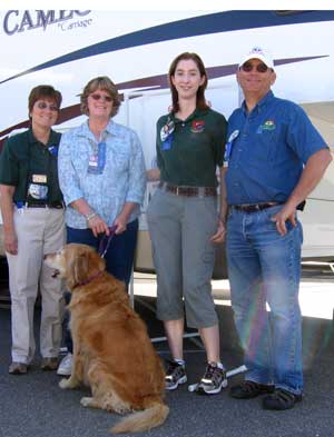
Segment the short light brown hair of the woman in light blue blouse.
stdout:
<svg viewBox="0 0 334 437">
<path fill-rule="evenodd" d="M 115 117 L 118 112 L 121 100 L 118 90 L 116 88 L 116 85 L 107 76 L 99 76 L 98 78 L 94 78 L 86 85 L 80 96 L 81 112 L 85 113 L 86 116 L 89 116 L 88 103 L 87 103 L 88 96 L 99 89 L 102 91 L 107 91 L 110 95 L 112 99 L 112 109 L 110 112 L 110 118 Z"/>
</svg>

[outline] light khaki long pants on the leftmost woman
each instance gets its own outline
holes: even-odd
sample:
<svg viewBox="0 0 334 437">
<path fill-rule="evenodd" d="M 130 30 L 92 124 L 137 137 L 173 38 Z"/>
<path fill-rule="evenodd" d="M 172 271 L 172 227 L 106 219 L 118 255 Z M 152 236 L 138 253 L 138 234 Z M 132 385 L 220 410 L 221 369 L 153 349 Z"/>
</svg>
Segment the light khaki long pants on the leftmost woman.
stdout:
<svg viewBox="0 0 334 437">
<path fill-rule="evenodd" d="M 12 360 L 29 364 L 35 355 L 33 308 L 42 299 L 40 351 L 57 357 L 63 315 L 62 284 L 52 278 L 43 256 L 65 244 L 63 209 L 23 208 L 14 211 L 18 255 L 7 254 L 11 296 Z"/>
</svg>

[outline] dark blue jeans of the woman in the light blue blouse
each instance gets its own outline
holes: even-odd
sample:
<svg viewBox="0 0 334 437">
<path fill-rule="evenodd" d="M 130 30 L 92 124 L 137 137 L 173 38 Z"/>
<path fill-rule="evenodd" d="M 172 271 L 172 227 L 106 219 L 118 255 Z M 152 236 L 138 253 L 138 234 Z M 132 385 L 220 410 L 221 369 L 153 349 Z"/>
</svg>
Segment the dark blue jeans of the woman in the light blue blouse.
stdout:
<svg viewBox="0 0 334 437">
<path fill-rule="evenodd" d="M 138 235 L 138 219 L 127 225 L 127 229 L 119 235 L 115 235 L 109 248 L 105 255 L 106 270 L 114 275 L 117 279 L 124 281 L 128 287 L 131 278 L 135 250 Z M 67 226 L 67 242 L 78 242 L 88 245 L 95 249 L 99 249 L 101 237 L 95 237 L 91 229 L 75 229 Z M 65 300 L 68 305 L 70 302 L 70 292 L 65 292 Z M 65 345 L 69 352 L 72 352 L 73 345 L 70 330 L 68 329 L 69 312 L 65 315 Z"/>
</svg>

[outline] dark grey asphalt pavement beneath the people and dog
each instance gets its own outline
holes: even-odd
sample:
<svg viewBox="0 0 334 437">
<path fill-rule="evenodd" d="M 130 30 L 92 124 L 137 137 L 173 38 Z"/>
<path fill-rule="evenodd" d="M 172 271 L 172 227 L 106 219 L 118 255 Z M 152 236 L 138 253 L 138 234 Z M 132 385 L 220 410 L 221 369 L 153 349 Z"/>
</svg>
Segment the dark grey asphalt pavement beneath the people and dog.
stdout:
<svg viewBox="0 0 334 437">
<path fill-rule="evenodd" d="M 330 284 L 334 278 L 328 277 Z M 326 282 L 327 284 L 327 282 Z M 226 299 L 223 294 L 222 299 Z M 148 309 L 151 297 L 136 298 L 136 309 L 148 325 L 150 337 L 161 337 L 163 327 Z M 227 369 L 242 365 L 242 354 L 230 307 L 217 306 L 222 331 L 222 358 Z M 38 338 L 39 309 L 36 310 Z M 166 394 L 170 408 L 159 428 L 136 436 L 150 437 L 331 437 L 334 436 L 334 336 L 330 319 L 304 317 L 305 394 L 292 410 L 266 411 L 261 399 L 236 400 L 228 388 L 215 396 L 198 396 L 187 385 Z M 155 344 L 161 358 L 168 357 L 165 341 Z M 205 368 L 202 345 L 185 340 L 189 384 Z M 28 375 L 8 374 L 10 364 L 10 310 L 0 308 L 0 437 L 106 437 L 119 417 L 104 410 L 86 409 L 80 398 L 85 388 L 61 390 L 56 373 L 41 371 L 37 356 Z M 229 386 L 242 375 L 229 379 Z"/>
</svg>

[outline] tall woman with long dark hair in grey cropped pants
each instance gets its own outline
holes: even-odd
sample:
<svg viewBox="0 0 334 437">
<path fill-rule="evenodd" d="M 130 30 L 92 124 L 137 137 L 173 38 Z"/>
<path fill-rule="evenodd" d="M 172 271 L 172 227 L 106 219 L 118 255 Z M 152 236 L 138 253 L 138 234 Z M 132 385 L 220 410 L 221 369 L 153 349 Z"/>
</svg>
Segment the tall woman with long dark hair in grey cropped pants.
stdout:
<svg viewBox="0 0 334 437">
<path fill-rule="evenodd" d="M 207 355 L 196 391 L 213 395 L 227 385 L 210 286 L 214 244 L 224 237 L 216 169 L 223 166 L 226 120 L 206 103 L 207 75 L 196 53 L 181 53 L 171 62 L 169 83 L 173 110 L 157 122 L 158 170 L 148 172 L 148 178 L 160 179 L 148 207 L 148 225 L 158 282 L 157 317 L 164 321 L 173 356 L 166 389 L 187 380 L 185 309 L 187 325 L 198 329 Z"/>
</svg>

